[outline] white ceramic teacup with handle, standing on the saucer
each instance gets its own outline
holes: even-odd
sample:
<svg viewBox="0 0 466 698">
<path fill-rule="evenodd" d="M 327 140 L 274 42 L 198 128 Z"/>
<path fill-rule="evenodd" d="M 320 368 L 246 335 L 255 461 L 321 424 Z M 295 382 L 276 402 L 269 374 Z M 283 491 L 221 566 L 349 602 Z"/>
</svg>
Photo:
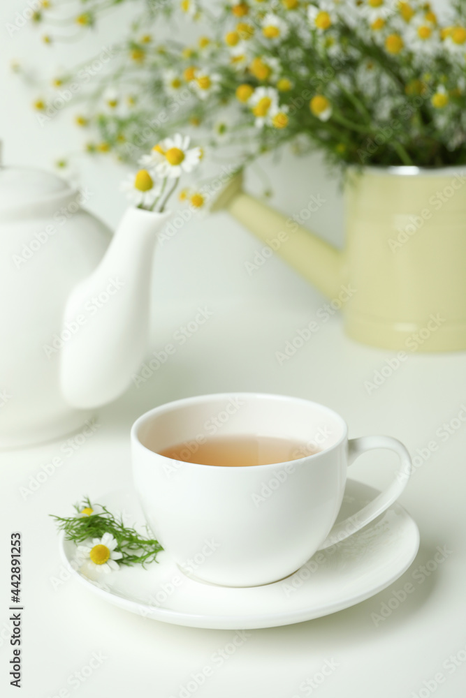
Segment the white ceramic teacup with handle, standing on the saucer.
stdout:
<svg viewBox="0 0 466 698">
<path fill-rule="evenodd" d="M 204 395 L 156 407 L 131 429 L 133 477 L 147 523 L 179 567 L 197 579 L 224 586 L 283 579 L 317 550 L 363 528 L 405 488 L 412 465 L 402 443 L 390 436 L 348 440 L 347 431 L 333 410 L 283 395 Z M 322 450 L 240 468 L 159 454 L 180 443 L 194 451 L 209 437 L 234 435 L 278 436 Z M 400 457 L 393 482 L 334 526 L 347 467 L 375 448 Z"/>
</svg>

